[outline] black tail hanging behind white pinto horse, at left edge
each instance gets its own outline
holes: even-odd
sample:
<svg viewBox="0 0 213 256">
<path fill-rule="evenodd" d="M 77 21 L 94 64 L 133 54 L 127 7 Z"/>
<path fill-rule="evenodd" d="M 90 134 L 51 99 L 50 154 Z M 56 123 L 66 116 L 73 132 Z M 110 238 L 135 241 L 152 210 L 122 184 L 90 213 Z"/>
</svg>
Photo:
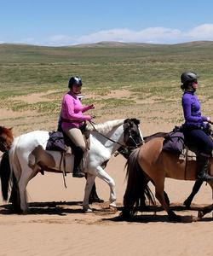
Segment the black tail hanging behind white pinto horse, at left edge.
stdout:
<svg viewBox="0 0 213 256">
<path fill-rule="evenodd" d="M 10 165 L 9 165 L 9 152 L 3 153 L 0 164 L 0 177 L 2 183 L 3 200 L 7 201 L 9 196 L 9 179 L 10 179 Z"/>
</svg>

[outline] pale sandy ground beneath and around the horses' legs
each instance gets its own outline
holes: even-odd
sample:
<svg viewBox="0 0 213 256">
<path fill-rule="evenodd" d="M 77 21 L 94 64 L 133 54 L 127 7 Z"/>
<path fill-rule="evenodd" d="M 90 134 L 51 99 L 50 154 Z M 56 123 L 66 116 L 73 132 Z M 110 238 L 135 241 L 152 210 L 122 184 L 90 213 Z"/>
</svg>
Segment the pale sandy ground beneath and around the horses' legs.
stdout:
<svg viewBox="0 0 213 256">
<path fill-rule="evenodd" d="M 153 123 L 141 128 L 149 135 L 172 127 Z M 0 201 L 0 255 L 212 255 L 212 213 L 199 222 L 170 223 L 164 211 L 153 207 L 156 212 L 139 212 L 133 222 L 117 221 L 125 189 L 124 164 L 122 156 L 112 156 L 107 165 L 116 183 L 117 212 L 108 207 L 109 188 L 98 178 L 97 191 L 105 202 L 93 204 L 94 212 L 83 213 L 85 180 L 67 175 L 65 188 L 62 175 L 53 173 L 38 174 L 28 184 L 29 214 L 11 213 L 9 204 Z M 165 183 L 171 207 L 183 220 L 196 217 L 200 207 L 212 202 L 210 187 L 203 185 L 192 208 L 184 209 L 182 202 L 192 188 L 193 182 Z"/>
</svg>

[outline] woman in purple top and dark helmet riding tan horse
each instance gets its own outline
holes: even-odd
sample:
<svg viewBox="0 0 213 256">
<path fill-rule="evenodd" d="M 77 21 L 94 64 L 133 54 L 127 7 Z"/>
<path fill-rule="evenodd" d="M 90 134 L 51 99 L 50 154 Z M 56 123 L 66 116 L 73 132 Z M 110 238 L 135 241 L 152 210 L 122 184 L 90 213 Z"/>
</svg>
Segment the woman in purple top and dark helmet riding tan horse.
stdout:
<svg viewBox="0 0 213 256">
<path fill-rule="evenodd" d="M 210 122 L 210 118 L 201 115 L 200 102 L 195 95 L 195 91 L 198 88 L 198 75 L 193 72 L 184 72 L 181 74 L 181 83 L 181 89 L 184 90 L 182 96 L 182 108 L 185 118 L 183 125 L 184 136 L 187 141 L 196 143 L 199 148 L 197 178 L 204 181 L 212 181 L 213 177 L 208 174 L 208 171 L 213 141 L 204 132 L 204 127 L 206 123 Z"/>
</svg>

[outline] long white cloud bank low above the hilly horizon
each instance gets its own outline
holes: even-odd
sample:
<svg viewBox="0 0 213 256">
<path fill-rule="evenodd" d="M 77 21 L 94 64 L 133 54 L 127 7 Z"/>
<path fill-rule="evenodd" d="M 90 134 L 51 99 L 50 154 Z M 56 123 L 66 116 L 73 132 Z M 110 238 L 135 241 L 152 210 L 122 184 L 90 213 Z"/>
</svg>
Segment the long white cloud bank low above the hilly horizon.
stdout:
<svg viewBox="0 0 213 256">
<path fill-rule="evenodd" d="M 41 39 L 39 42 L 34 38 L 25 38 L 19 40 L 19 42 L 16 41 L 13 43 L 62 46 L 72 44 L 92 44 L 101 41 L 118 41 L 122 43 L 176 44 L 196 40 L 213 40 L 213 24 L 203 24 L 193 27 L 188 31 L 181 31 L 180 29 L 176 28 L 158 26 L 147 27 L 141 31 L 134 31 L 127 28 L 117 28 L 94 32 L 79 37 L 59 34 L 50 38 Z"/>
</svg>

